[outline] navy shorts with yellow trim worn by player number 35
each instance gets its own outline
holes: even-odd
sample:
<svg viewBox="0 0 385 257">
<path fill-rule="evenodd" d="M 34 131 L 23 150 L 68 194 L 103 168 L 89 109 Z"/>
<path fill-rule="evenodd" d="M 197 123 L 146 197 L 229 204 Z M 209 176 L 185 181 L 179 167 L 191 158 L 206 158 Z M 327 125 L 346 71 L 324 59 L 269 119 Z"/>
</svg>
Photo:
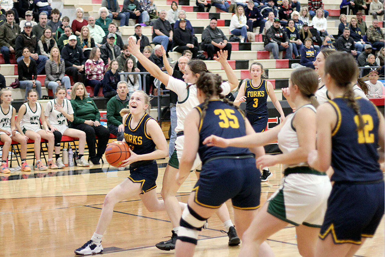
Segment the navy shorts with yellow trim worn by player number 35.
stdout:
<svg viewBox="0 0 385 257">
<path fill-rule="evenodd" d="M 195 191 L 195 202 L 208 208 L 219 208 L 231 199 L 233 207 L 255 210 L 261 195 L 261 173 L 254 158 L 217 159 L 202 167 Z"/>
</svg>

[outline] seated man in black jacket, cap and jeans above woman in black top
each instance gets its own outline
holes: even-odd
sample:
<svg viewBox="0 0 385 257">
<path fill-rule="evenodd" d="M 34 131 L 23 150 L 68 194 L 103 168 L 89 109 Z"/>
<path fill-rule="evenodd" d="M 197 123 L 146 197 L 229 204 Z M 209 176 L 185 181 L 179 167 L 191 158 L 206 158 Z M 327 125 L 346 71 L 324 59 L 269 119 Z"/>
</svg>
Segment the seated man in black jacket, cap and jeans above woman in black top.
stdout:
<svg viewBox="0 0 385 257">
<path fill-rule="evenodd" d="M 28 47 L 30 59 L 33 59 L 37 63 L 37 74 L 40 74 L 44 67 L 48 57 L 40 55 L 39 47 L 37 45 L 37 38 L 32 32 L 32 24 L 26 22 L 24 24 L 24 31 L 17 35 L 15 39 L 15 56 L 16 62 L 20 62 L 23 59 L 23 48 Z"/>
</svg>

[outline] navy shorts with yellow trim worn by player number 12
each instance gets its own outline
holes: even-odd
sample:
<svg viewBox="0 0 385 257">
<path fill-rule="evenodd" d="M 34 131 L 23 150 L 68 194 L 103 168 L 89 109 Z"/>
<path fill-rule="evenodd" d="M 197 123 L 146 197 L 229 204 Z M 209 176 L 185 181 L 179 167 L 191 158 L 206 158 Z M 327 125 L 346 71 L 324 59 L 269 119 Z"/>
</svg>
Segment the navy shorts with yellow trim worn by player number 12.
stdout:
<svg viewBox="0 0 385 257">
<path fill-rule="evenodd" d="M 328 208 L 319 237 L 331 233 L 335 244 L 361 244 L 373 237 L 384 214 L 384 182 L 371 184 L 338 183 L 328 199 Z"/>
</svg>

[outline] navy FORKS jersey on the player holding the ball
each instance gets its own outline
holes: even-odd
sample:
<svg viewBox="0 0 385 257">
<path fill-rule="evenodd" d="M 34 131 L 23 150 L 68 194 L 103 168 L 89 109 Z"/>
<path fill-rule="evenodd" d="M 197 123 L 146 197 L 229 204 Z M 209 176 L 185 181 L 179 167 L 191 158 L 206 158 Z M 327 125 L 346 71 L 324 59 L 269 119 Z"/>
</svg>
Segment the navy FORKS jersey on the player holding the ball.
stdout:
<svg viewBox="0 0 385 257">
<path fill-rule="evenodd" d="M 146 133 L 147 121 L 153 119 L 147 113 L 144 114 L 136 128 L 131 128 L 131 113 L 124 120 L 124 140 L 130 146 L 131 150 L 137 155 L 143 155 L 155 151 L 155 143 L 152 138 Z"/>
</svg>

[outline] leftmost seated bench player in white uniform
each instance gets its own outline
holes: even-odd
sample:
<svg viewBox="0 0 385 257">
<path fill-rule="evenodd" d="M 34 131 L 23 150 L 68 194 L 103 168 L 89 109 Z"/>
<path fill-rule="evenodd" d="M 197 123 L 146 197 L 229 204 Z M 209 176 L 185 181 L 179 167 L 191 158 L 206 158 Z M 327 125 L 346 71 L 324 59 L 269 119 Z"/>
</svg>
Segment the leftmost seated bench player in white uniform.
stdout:
<svg viewBox="0 0 385 257">
<path fill-rule="evenodd" d="M 8 149 L 11 146 L 12 140 L 21 144 L 20 158 L 22 159 L 22 171 L 31 171 L 31 168 L 28 166 L 27 158 L 27 139 L 22 136 L 15 126 L 15 115 L 16 109 L 10 105 L 12 101 L 12 91 L 8 88 L 3 88 L 0 91 L 0 102 L 1 102 L 1 112 L 0 112 L 0 141 L 4 143 L 3 145 L 3 154 L 2 155 L 2 164 L 0 167 L 0 173 L 10 173 L 7 165 L 8 158 Z"/>
</svg>

